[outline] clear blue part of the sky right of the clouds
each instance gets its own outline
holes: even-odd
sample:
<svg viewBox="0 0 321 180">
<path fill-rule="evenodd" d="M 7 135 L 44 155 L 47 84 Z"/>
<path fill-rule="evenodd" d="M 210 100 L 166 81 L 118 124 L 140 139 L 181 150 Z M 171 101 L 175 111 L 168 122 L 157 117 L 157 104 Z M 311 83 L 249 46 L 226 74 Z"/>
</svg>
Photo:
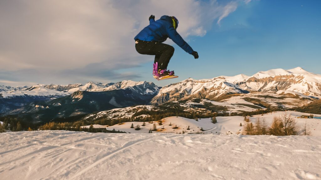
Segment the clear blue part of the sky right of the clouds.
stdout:
<svg viewBox="0 0 321 180">
<path fill-rule="evenodd" d="M 175 70 L 179 78 L 154 81 L 149 77 L 151 63 L 143 64 L 135 71 L 147 70 L 146 79 L 160 86 L 189 77 L 253 75 L 260 70 L 298 66 L 321 74 L 320 5 L 321 1 L 303 0 L 261 0 L 241 4 L 221 21 L 220 26 L 213 22 L 204 37 L 187 38 L 198 51 L 199 59 L 195 60 L 174 45 L 176 51 L 169 69 Z"/>
</svg>

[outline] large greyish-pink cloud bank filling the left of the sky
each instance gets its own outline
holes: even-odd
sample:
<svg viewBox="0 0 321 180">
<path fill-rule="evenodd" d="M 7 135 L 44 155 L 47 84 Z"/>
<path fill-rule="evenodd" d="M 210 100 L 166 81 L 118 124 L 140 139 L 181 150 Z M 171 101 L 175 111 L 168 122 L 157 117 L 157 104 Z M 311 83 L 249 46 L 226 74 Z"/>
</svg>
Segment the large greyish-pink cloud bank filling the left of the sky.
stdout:
<svg viewBox="0 0 321 180">
<path fill-rule="evenodd" d="M 132 74 L 116 71 L 153 61 L 135 51 L 133 39 L 151 14 L 175 15 L 182 37 L 203 37 L 236 8 L 216 0 L 0 1 L 0 71 L 11 75 L 0 79 L 126 78 Z"/>
</svg>

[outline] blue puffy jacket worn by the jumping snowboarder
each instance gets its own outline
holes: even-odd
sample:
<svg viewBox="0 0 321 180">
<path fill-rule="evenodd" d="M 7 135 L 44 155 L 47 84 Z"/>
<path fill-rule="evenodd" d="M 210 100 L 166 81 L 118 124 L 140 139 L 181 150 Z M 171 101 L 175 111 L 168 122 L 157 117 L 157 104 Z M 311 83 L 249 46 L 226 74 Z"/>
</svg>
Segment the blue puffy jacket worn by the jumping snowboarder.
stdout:
<svg viewBox="0 0 321 180">
<path fill-rule="evenodd" d="M 167 38 L 174 41 L 189 54 L 193 53 L 191 46 L 177 33 L 173 20 L 169 16 L 162 16 L 159 20 L 151 19 L 149 25 L 134 37 L 135 40 L 164 42 Z"/>
</svg>

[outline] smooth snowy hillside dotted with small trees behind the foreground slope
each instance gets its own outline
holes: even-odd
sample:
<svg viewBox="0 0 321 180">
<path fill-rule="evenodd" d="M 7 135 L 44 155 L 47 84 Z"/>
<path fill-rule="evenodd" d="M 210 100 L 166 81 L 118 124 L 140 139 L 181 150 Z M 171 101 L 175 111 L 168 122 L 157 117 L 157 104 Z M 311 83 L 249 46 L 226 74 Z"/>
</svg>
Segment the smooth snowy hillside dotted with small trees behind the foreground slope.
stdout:
<svg viewBox="0 0 321 180">
<path fill-rule="evenodd" d="M 274 117 L 280 117 L 284 114 L 284 111 L 275 111 L 272 113 L 262 115 L 255 115 L 253 117 L 249 117 L 250 122 L 255 124 L 256 119 L 265 119 L 268 127 L 272 124 Z M 305 122 L 311 131 L 312 136 L 321 136 L 321 119 L 302 119 L 296 118 L 302 115 L 309 115 L 308 113 L 296 112 L 296 111 L 286 111 L 295 118 L 297 125 L 300 129 L 304 126 Z M 315 114 L 315 116 L 321 117 L 321 115 Z M 158 125 L 157 121 L 152 121 L 152 123 L 145 122 L 146 126 L 142 126 L 143 122 L 126 122 L 122 124 L 117 124 L 114 126 L 110 126 L 107 129 L 116 131 L 125 131 L 129 133 L 148 133 L 148 131 L 153 128 L 153 124 L 155 123 L 157 126 L 157 132 L 165 132 L 165 133 L 196 133 L 202 132 L 200 129 L 203 127 L 205 134 L 238 134 L 242 132 L 243 127 L 240 127 L 240 123 L 245 125 L 244 117 L 242 116 L 226 116 L 226 117 L 216 117 L 217 123 L 213 124 L 210 118 L 198 119 L 187 119 L 182 117 L 167 117 L 162 119 L 163 125 Z M 134 128 L 130 128 L 131 124 L 135 126 L 139 125 L 141 130 L 135 130 Z M 172 126 L 169 126 L 172 124 Z M 177 125 L 178 129 L 173 129 L 173 127 Z M 187 130 L 187 127 L 190 126 L 190 130 Z M 164 129 L 161 129 L 161 128 Z"/>
</svg>

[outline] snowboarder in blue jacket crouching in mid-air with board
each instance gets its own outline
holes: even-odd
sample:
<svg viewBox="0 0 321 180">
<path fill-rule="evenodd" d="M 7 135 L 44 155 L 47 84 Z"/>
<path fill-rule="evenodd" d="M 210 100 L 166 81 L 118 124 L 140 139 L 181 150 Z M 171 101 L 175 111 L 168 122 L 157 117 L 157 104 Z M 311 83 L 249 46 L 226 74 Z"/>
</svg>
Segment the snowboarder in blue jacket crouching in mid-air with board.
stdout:
<svg viewBox="0 0 321 180">
<path fill-rule="evenodd" d="M 140 31 L 135 39 L 136 51 L 140 54 L 155 55 L 153 64 L 154 78 L 174 76 L 174 71 L 167 70 L 170 58 L 173 56 L 174 47 L 163 44 L 168 37 L 195 59 L 198 53 L 184 41 L 177 33 L 178 20 L 174 16 L 162 16 L 155 21 L 155 16 L 149 17 L 149 25 Z"/>
</svg>

